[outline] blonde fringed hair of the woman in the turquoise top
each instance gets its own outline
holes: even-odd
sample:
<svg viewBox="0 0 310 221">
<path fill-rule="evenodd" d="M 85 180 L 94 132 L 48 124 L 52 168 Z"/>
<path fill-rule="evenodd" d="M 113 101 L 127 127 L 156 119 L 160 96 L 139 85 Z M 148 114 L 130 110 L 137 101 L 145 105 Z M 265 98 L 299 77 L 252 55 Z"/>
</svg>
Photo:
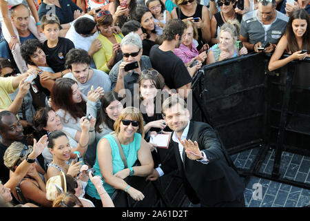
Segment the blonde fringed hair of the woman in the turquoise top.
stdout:
<svg viewBox="0 0 310 221">
<path fill-rule="evenodd" d="M 128 115 L 130 115 L 132 120 L 136 120 L 137 122 L 139 122 L 139 128 L 137 132 L 140 133 L 142 137 L 144 137 L 144 126 L 143 126 L 142 114 L 138 110 L 138 108 L 135 108 L 133 106 L 128 106 L 127 108 L 124 108 L 121 114 L 118 116 L 118 118 L 114 122 L 114 131 L 116 135 L 118 135 L 119 133 L 119 128 L 121 126 L 122 119 L 125 119 Z"/>
</svg>

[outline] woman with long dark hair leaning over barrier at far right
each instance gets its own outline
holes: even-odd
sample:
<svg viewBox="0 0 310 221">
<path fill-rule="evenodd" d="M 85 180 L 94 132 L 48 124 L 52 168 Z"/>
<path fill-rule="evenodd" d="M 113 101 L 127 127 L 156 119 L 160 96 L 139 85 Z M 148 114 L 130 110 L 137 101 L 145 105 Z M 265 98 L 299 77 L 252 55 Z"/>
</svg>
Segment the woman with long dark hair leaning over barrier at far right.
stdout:
<svg viewBox="0 0 310 221">
<path fill-rule="evenodd" d="M 268 69 L 276 70 L 285 66 L 290 61 L 302 60 L 309 57 L 310 52 L 310 27 L 308 13 L 304 9 L 293 12 L 287 23 L 287 30 L 273 52 L 269 61 Z M 304 51 L 302 51 L 304 50 Z M 284 52 L 291 54 L 285 59 L 281 59 Z"/>
</svg>

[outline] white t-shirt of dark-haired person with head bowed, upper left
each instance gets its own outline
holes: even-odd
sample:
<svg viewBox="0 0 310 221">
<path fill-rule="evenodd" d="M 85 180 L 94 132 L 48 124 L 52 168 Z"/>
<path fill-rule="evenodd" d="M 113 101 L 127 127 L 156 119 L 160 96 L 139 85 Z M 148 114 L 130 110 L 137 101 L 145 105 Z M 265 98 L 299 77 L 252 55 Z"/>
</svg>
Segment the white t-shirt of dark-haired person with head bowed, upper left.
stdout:
<svg viewBox="0 0 310 221">
<path fill-rule="evenodd" d="M 94 20 L 94 17 L 92 17 L 91 15 L 87 15 L 87 14 L 79 17 L 79 19 L 83 17 L 87 17 L 89 19 Z M 97 38 L 97 36 L 99 35 L 99 32 L 94 33 L 94 35 L 90 37 L 82 37 L 74 29 L 74 23 L 76 20 L 72 22 L 72 26 L 69 28 L 67 34 L 65 35 L 65 38 L 70 39 L 73 42 L 75 48 L 81 48 L 83 50 L 88 51 L 90 50 L 90 46 L 92 46 L 92 41 L 94 41 Z"/>
</svg>

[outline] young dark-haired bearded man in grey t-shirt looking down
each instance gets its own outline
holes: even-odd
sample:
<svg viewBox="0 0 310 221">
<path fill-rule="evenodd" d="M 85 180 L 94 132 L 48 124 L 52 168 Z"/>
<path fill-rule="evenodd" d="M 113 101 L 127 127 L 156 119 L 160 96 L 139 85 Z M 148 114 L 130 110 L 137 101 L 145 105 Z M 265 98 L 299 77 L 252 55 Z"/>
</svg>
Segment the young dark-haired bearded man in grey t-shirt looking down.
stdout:
<svg viewBox="0 0 310 221">
<path fill-rule="evenodd" d="M 109 75 L 102 70 L 90 68 L 90 55 L 86 50 L 71 49 L 65 56 L 65 68 L 69 68 L 71 72 L 63 77 L 74 79 L 85 96 L 92 88 L 98 92 L 103 88 L 104 93 L 111 90 Z M 101 87 L 100 91 L 98 87 Z"/>
</svg>

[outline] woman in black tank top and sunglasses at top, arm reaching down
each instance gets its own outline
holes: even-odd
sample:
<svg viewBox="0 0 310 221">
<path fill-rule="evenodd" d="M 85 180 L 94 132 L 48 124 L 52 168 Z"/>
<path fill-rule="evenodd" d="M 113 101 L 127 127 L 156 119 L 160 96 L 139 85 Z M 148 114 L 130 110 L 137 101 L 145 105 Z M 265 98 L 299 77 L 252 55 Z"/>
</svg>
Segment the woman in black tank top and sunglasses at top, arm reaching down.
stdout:
<svg viewBox="0 0 310 221">
<path fill-rule="evenodd" d="M 198 29 L 196 48 L 200 50 L 211 39 L 211 21 L 209 9 L 196 2 L 196 0 L 176 0 L 178 8 L 172 10 L 172 19 L 189 19 Z"/>
</svg>

